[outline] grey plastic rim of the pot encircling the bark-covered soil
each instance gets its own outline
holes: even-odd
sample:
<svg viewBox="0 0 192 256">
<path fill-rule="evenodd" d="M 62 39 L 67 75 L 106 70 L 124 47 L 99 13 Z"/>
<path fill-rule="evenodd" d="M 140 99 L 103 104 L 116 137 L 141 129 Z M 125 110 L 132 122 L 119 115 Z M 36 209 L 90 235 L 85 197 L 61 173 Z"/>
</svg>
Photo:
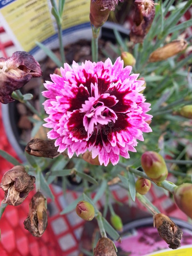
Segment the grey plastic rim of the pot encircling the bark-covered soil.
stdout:
<svg viewBox="0 0 192 256">
<path fill-rule="evenodd" d="M 114 24 L 112 22 L 106 22 L 101 29 L 100 38 L 105 41 L 115 43 L 115 35 L 113 29 L 117 29 L 123 38 L 126 38 L 129 35 L 129 30 L 124 29 L 122 26 Z M 75 42 L 76 40 L 79 40 L 81 38 L 91 39 L 91 28 L 87 28 L 87 26 L 85 26 L 84 28 L 80 28 L 79 30 L 75 31 L 68 30 L 66 38 L 68 43 Z M 64 45 L 66 45 L 66 41 L 64 41 Z M 20 160 L 24 162 L 26 160 L 23 154 L 25 146 L 23 143 L 21 143 L 21 129 L 19 129 L 17 126 L 19 116 L 16 108 L 16 103 L 17 102 L 15 101 L 11 104 L 2 104 L 3 125 L 5 127 L 9 142 L 12 144 L 13 148 L 17 152 Z"/>
</svg>

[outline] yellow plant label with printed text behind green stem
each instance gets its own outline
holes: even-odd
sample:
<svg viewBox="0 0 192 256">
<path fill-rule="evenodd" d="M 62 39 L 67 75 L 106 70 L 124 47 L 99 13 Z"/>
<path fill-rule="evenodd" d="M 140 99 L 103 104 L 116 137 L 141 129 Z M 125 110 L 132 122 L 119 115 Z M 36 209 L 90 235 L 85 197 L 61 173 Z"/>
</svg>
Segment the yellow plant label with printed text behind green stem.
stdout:
<svg viewBox="0 0 192 256">
<path fill-rule="evenodd" d="M 50 0 L 0 0 L 0 19 L 18 50 L 33 54 L 36 41 L 49 44 L 57 38 L 57 24 L 51 14 Z M 66 0 L 62 30 L 76 30 L 89 23 L 90 1 Z"/>
</svg>

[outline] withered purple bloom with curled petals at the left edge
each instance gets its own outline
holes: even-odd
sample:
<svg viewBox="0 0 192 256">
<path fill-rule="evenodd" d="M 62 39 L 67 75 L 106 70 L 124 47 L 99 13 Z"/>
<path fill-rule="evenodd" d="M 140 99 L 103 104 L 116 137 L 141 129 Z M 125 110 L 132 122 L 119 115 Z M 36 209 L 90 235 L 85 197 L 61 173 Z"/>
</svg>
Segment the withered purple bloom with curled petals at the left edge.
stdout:
<svg viewBox="0 0 192 256">
<path fill-rule="evenodd" d="M 41 77 L 39 63 L 26 51 L 16 51 L 8 59 L 0 58 L 0 102 L 14 101 L 13 91 L 24 86 L 32 77 Z"/>
</svg>

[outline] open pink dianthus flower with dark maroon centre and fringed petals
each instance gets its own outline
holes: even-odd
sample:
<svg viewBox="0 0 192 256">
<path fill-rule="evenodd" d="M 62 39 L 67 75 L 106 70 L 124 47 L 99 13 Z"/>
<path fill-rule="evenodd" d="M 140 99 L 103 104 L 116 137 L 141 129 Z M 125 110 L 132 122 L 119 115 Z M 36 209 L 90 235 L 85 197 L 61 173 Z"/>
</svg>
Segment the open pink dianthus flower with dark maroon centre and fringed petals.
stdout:
<svg viewBox="0 0 192 256">
<path fill-rule="evenodd" d="M 86 150 L 92 158 L 98 156 L 100 164 L 113 165 L 119 155 L 129 158 L 128 151 L 136 152 L 137 139 L 143 141 L 143 132 L 152 131 L 146 121 L 151 115 L 145 103 L 143 80 L 131 74 L 131 66 L 123 68 L 120 57 L 114 65 L 110 59 L 104 63 L 65 63 L 61 76 L 50 75 L 53 82 L 44 84 L 48 90 L 44 108 L 49 115 L 45 127 L 49 139 L 56 139 L 58 151 L 68 149 L 71 158 Z"/>
</svg>

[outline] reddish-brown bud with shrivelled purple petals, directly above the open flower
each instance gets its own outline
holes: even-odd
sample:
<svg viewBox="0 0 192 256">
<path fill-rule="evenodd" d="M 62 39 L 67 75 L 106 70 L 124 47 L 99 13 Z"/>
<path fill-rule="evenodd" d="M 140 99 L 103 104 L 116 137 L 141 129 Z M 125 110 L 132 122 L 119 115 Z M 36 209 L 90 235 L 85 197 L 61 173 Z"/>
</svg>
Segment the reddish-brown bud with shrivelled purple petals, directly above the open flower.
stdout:
<svg viewBox="0 0 192 256">
<path fill-rule="evenodd" d="M 123 0 L 119 0 L 123 2 Z M 115 10 L 118 0 L 91 0 L 90 22 L 95 28 L 101 27 L 108 19 L 110 11 Z"/>
</svg>

